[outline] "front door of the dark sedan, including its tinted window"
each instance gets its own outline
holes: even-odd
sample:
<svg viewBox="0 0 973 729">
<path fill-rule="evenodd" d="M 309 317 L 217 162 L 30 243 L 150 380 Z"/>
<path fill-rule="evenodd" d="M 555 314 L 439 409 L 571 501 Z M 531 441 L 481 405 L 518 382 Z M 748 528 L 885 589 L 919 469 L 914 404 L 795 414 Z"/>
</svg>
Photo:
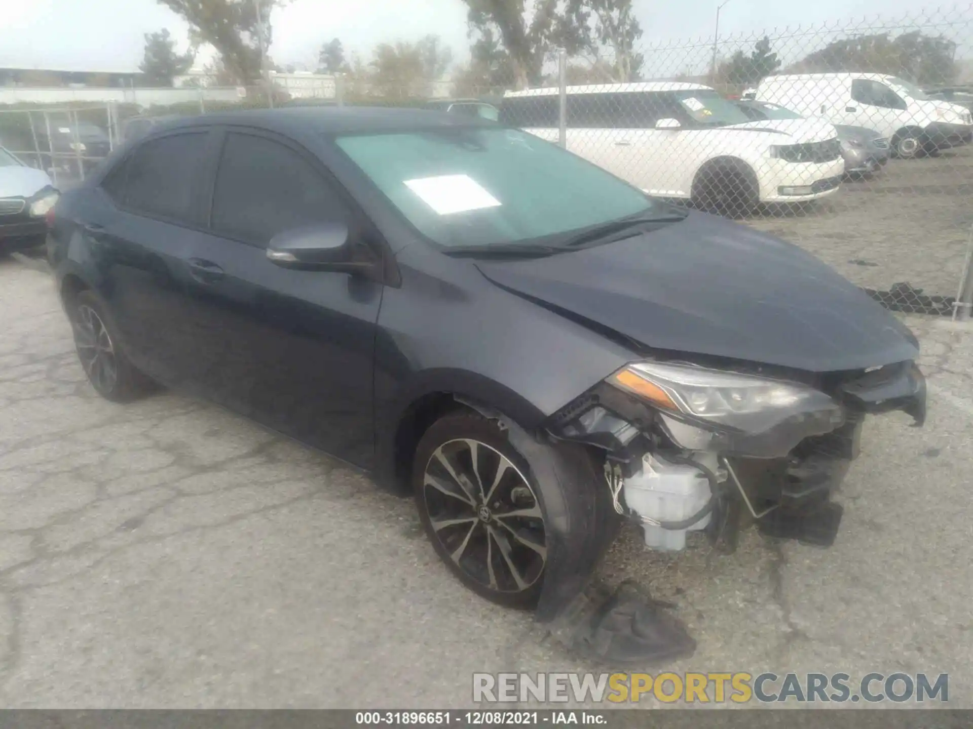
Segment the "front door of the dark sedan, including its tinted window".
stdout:
<svg viewBox="0 0 973 729">
<path fill-rule="evenodd" d="M 267 246 L 285 230 L 343 223 L 380 257 L 377 231 L 316 157 L 270 133 L 227 130 L 211 178 L 209 232 L 186 256 L 195 382 L 274 430 L 368 467 L 382 285 L 282 268 Z"/>
</svg>

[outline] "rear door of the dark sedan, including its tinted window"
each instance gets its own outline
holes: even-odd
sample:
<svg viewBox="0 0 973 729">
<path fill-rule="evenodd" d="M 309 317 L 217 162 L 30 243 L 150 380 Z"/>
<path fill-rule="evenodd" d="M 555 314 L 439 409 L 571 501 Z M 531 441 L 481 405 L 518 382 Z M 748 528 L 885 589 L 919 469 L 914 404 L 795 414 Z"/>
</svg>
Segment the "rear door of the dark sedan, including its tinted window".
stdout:
<svg viewBox="0 0 973 729">
<path fill-rule="evenodd" d="M 98 278 L 133 363 L 180 386 L 189 361 L 185 252 L 201 234 L 201 160 L 207 128 L 174 131 L 134 148 L 92 191 L 85 219 Z"/>
</svg>

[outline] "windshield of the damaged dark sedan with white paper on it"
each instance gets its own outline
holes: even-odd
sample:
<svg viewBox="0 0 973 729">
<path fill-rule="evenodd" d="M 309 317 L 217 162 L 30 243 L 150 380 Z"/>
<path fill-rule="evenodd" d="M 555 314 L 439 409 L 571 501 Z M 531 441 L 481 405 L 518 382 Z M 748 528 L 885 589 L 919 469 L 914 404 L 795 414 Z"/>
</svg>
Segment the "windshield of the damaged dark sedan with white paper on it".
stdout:
<svg viewBox="0 0 973 729">
<path fill-rule="evenodd" d="M 650 212 L 641 191 L 526 132 L 447 127 L 337 144 L 443 246 L 520 243 Z"/>
</svg>

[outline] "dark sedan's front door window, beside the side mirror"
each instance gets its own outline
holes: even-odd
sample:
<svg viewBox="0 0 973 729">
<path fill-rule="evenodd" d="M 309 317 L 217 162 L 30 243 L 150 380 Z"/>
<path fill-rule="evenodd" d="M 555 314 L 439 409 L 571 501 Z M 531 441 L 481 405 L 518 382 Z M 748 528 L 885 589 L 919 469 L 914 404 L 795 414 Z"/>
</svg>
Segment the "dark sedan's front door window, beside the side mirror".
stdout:
<svg viewBox="0 0 973 729">
<path fill-rule="evenodd" d="M 279 142 L 231 132 L 213 191 L 212 228 L 266 246 L 277 233 L 314 223 L 351 223 L 331 185 L 297 152 Z"/>
</svg>

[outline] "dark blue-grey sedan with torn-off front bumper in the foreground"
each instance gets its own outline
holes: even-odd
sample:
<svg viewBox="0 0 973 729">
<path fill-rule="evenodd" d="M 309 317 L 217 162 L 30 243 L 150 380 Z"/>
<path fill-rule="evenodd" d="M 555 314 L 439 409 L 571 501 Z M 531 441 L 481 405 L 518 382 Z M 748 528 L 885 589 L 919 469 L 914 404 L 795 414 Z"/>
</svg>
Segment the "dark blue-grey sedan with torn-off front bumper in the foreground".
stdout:
<svg viewBox="0 0 973 729">
<path fill-rule="evenodd" d="M 586 594 L 621 520 L 831 543 L 866 413 L 924 418 L 916 338 L 809 253 L 459 114 L 160 124 L 48 256 L 99 394 L 179 388 L 412 492 L 463 584 L 605 660 L 695 646 Z"/>
</svg>

